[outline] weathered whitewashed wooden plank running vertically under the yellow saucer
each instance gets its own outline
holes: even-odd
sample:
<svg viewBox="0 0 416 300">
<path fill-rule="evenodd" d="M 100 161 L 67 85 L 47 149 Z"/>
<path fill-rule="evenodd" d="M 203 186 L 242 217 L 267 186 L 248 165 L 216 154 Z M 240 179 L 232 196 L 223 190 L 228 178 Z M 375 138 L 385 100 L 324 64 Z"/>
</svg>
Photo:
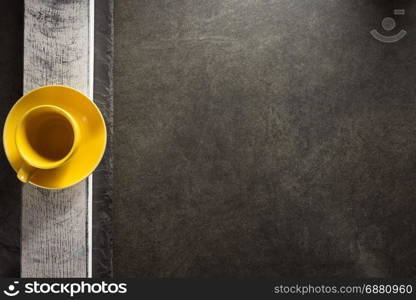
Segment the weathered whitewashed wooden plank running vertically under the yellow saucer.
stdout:
<svg viewBox="0 0 416 300">
<path fill-rule="evenodd" d="M 24 92 L 49 84 L 91 96 L 93 0 L 25 0 Z M 22 277 L 86 277 L 90 251 L 88 181 L 22 191 Z"/>
</svg>

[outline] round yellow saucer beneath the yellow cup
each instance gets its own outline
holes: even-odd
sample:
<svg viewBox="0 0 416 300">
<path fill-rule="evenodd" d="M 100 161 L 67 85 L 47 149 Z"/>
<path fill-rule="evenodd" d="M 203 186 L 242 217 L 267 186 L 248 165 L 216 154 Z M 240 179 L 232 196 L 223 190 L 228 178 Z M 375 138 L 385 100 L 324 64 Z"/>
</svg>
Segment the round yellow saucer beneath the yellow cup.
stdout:
<svg viewBox="0 0 416 300">
<path fill-rule="evenodd" d="M 107 132 L 103 116 L 87 96 L 66 86 L 44 86 L 24 95 L 10 110 L 3 130 L 4 150 L 16 172 L 22 165 L 15 142 L 17 124 L 25 112 L 39 105 L 56 105 L 66 110 L 78 123 L 80 141 L 68 162 L 55 169 L 36 170 L 29 182 L 47 189 L 74 185 L 94 171 L 104 154 Z"/>
</svg>

